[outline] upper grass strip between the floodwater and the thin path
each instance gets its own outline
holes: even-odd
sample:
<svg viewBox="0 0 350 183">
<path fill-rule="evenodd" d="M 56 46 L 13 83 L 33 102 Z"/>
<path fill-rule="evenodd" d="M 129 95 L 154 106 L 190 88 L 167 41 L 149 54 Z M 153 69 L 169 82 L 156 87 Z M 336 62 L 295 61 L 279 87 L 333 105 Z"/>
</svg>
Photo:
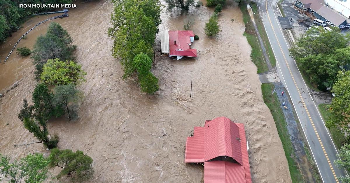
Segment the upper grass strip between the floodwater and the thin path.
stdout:
<svg viewBox="0 0 350 183">
<path fill-rule="evenodd" d="M 257 33 L 255 32 L 254 25 L 250 19 L 245 3 L 239 6 L 243 14 L 243 22 L 245 24 L 244 36 L 247 38 L 248 43 L 252 47 L 252 53 L 250 55 L 251 60 L 257 67 L 257 73 L 265 73 L 268 71 L 266 62 L 264 61 L 264 54 L 261 52 L 259 41 L 257 41 Z"/>
</svg>

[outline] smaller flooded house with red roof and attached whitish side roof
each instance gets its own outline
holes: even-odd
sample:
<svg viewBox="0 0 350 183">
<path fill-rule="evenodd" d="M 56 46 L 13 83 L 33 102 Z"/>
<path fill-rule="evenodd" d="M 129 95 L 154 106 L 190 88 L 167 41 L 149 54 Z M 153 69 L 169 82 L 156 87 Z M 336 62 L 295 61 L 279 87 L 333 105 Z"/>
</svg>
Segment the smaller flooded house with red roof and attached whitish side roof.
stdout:
<svg viewBox="0 0 350 183">
<path fill-rule="evenodd" d="M 191 48 L 194 37 L 193 31 L 162 31 L 162 53 L 176 56 L 177 60 L 184 56 L 197 57 L 197 49 Z"/>
</svg>

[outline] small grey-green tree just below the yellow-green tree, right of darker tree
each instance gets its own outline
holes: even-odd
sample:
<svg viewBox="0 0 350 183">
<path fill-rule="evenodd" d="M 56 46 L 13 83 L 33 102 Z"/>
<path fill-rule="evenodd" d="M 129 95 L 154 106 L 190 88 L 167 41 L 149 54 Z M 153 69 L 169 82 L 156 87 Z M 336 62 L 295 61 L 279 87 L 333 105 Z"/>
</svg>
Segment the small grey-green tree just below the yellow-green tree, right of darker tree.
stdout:
<svg viewBox="0 0 350 183">
<path fill-rule="evenodd" d="M 72 120 L 77 115 L 76 103 L 78 100 L 79 91 L 75 88 L 75 85 L 70 83 L 67 85 L 55 87 L 54 100 L 57 106 L 62 106 L 68 113 L 68 119 Z M 73 110 L 74 109 L 74 110 Z"/>
</svg>

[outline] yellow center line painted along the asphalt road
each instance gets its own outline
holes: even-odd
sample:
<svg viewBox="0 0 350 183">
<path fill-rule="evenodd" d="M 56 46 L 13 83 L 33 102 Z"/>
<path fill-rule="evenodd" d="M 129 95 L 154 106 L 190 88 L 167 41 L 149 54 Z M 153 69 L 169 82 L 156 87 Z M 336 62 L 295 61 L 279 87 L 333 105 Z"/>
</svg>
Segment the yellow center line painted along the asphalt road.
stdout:
<svg viewBox="0 0 350 183">
<path fill-rule="evenodd" d="M 267 10 L 267 1 L 266 1 L 266 3 L 265 3 L 265 6 L 266 6 L 266 13 L 267 13 L 267 16 L 268 16 L 268 20 L 269 20 L 269 22 L 270 22 L 270 24 L 271 24 L 272 31 L 273 31 L 273 33 L 274 33 L 274 35 L 275 35 L 275 37 L 276 37 L 276 40 L 277 40 L 277 43 L 278 43 L 280 49 L 281 49 L 283 58 L 284 58 L 284 60 L 285 60 L 285 62 L 286 62 L 286 64 L 287 64 L 287 67 L 288 67 L 288 70 L 289 70 L 289 72 L 290 72 L 290 75 L 292 76 L 292 79 L 293 79 L 293 82 L 294 82 L 294 84 L 295 84 L 296 90 L 298 91 L 299 96 L 300 96 L 300 98 L 301 98 L 301 100 L 302 100 L 302 102 L 303 102 L 303 106 L 304 106 L 304 108 L 305 108 L 305 110 L 306 110 L 307 115 L 309 116 L 309 119 L 310 119 L 310 121 L 311 121 L 311 125 L 313 126 L 313 128 L 314 128 L 314 130 L 315 130 L 316 136 L 317 136 L 317 138 L 318 138 L 318 141 L 319 141 L 320 144 L 321 144 L 322 150 L 323 150 L 324 155 L 325 155 L 325 157 L 326 157 L 326 159 L 327 159 L 327 161 L 328 161 L 328 164 L 329 164 L 329 166 L 330 166 L 330 169 L 332 170 L 332 173 L 333 173 L 333 175 L 334 175 L 334 178 L 335 178 L 335 180 L 337 181 L 337 183 L 339 183 L 338 178 L 337 178 L 337 176 L 335 175 L 334 169 L 333 169 L 333 167 L 332 167 L 332 164 L 330 163 L 329 158 L 328 158 L 328 155 L 327 155 L 327 153 L 326 153 L 326 151 L 325 151 L 325 149 L 324 149 L 324 146 L 323 146 L 323 144 L 322 144 L 322 142 L 321 142 L 320 136 L 318 136 L 317 130 L 316 130 L 315 125 L 314 125 L 314 122 L 312 121 L 311 116 L 310 116 L 310 113 L 309 113 L 309 111 L 308 111 L 308 109 L 307 109 L 307 107 L 306 107 L 306 105 L 305 105 L 305 102 L 304 102 L 302 96 L 301 96 L 300 90 L 299 90 L 299 88 L 298 88 L 297 85 L 296 85 L 296 82 L 295 82 L 294 76 L 293 76 L 293 74 L 292 74 L 292 71 L 291 71 L 290 68 L 289 68 L 289 64 L 288 64 L 288 62 L 287 62 L 286 56 L 285 56 L 285 54 L 284 54 L 283 51 L 282 51 L 282 47 L 281 47 L 280 42 L 279 42 L 279 40 L 278 40 L 278 38 L 277 38 L 276 32 L 275 32 L 275 30 L 274 30 L 274 28 L 273 28 L 273 25 L 272 25 L 270 16 L 269 16 L 269 14 L 268 14 L 268 10 Z"/>
</svg>

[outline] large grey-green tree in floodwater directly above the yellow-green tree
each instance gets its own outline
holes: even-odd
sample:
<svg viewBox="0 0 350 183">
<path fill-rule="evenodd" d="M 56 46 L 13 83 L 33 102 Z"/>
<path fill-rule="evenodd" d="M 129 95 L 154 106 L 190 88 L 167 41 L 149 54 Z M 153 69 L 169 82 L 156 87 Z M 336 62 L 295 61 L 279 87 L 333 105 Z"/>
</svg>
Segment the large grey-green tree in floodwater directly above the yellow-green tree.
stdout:
<svg viewBox="0 0 350 183">
<path fill-rule="evenodd" d="M 76 49 L 72 38 L 58 23 L 51 22 L 45 35 L 36 39 L 31 58 L 34 60 L 37 78 L 42 72 L 43 65 L 49 59 L 71 60 Z"/>
</svg>

